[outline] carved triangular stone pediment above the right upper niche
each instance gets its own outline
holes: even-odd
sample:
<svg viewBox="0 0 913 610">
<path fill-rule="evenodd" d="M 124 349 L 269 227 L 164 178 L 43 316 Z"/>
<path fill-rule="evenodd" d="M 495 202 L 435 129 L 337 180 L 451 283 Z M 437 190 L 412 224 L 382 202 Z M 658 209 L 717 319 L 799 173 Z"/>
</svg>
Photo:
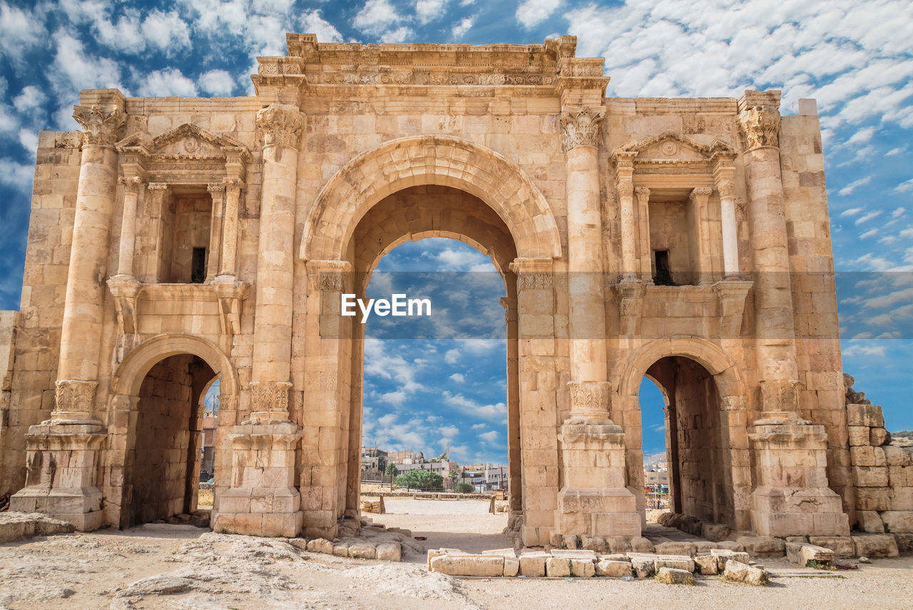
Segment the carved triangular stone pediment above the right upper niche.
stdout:
<svg viewBox="0 0 913 610">
<path fill-rule="evenodd" d="M 713 174 L 717 165 L 730 165 L 737 154 L 732 146 L 719 138 L 702 143 L 668 130 L 615 148 L 612 162 L 616 168 L 632 168 L 638 176 L 651 176 L 636 180 L 638 185 L 714 186 Z M 682 178 L 687 184 L 677 184 L 682 182 Z"/>
</svg>

